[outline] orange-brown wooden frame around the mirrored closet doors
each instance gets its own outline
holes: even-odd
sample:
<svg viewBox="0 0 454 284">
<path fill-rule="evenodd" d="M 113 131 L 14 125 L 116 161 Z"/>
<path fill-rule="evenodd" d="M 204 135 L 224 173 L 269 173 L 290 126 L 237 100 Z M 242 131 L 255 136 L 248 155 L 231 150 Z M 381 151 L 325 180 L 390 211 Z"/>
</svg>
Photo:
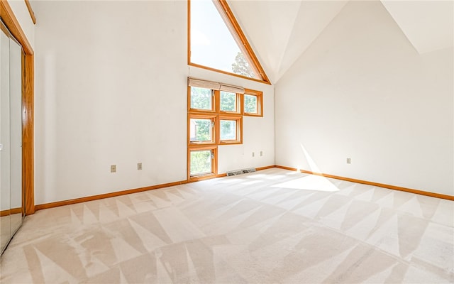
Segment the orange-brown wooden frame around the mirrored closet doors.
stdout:
<svg viewBox="0 0 454 284">
<path fill-rule="evenodd" d="M 22 73 L 22 191 L 25 214 L 35 213 L 34 89 L 35 55 L 8 1 L 0 0 L 0 17 L 25 53 Z"/>
</svg>

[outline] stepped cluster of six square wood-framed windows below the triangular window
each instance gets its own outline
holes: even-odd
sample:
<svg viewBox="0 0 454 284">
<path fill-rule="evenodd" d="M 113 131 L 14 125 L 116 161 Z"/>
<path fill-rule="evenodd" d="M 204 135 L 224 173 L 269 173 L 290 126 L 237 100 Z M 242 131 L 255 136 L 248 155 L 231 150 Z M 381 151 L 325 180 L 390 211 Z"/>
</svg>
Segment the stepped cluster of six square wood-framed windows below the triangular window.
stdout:
<svg viewBox="0 0 454 284">
<path fill-rule="evenodd" d="M 193 78 L 188 85 L 188 180 L 210 178 L 218 146 L 243 143 L 243 115 L 262 116 L 262 92 Z"/>
</svg>

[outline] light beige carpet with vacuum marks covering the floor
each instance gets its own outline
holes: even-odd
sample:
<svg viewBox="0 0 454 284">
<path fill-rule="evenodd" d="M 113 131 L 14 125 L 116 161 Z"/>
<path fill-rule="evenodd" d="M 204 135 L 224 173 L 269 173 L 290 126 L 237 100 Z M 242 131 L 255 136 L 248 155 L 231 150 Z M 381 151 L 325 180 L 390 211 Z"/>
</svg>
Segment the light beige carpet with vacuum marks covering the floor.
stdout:
<svg viewBox="0 0 454 284">
<path fill-rule="evenodd" d="M 3 283 L 453 283 L 454 203 L 270 169 L 36 212 Z"/>
</svg>

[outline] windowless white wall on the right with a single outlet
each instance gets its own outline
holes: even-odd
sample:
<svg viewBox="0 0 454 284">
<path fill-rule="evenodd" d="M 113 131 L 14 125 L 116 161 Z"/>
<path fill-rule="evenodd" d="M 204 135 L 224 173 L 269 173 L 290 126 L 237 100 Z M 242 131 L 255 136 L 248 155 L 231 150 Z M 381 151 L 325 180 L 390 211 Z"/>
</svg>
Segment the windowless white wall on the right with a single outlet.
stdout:
<svg viewBox="0 0 454 284">
<path fill-rule="evenodd" d="M 453 51 L 350 1 L 276 84 L 277 165 L 454 195 Z"/>
</svg>

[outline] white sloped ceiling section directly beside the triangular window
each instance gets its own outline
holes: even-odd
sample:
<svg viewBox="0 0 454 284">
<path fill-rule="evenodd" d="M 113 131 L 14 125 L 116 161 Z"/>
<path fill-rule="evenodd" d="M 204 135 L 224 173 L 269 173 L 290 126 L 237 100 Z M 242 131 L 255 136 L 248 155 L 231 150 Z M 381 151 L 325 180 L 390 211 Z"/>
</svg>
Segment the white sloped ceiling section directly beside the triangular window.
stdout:
<svg viewBox="0 0 454 284">
<path fill-rule="evenodd" d="M 348 1 L 229 1 L 271 82 L 278 82 Z"/>
</svg>

